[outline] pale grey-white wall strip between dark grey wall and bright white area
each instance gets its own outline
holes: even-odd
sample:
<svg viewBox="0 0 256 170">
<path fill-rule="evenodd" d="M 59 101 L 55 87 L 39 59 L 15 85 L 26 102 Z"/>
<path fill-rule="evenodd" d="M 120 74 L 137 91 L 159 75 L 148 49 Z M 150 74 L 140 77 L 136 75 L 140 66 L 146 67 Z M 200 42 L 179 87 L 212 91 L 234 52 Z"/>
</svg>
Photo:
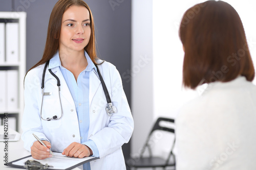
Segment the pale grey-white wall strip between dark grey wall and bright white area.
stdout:
<svg viewBox="0 0 256 170">
<path fill-rule="evenodd" d="M 132 1 L 133 156 L 140 153 L 154 117 L 152 3 L 152 0 Z"/>
</svg>

